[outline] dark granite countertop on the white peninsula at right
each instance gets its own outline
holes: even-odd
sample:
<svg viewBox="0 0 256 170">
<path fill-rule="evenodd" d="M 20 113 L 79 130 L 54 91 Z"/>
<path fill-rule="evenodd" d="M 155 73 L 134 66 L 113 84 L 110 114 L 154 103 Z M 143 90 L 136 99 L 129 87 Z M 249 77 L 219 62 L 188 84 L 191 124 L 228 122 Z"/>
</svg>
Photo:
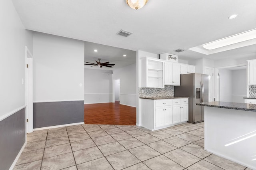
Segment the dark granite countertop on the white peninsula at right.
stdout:
<svg viewBox="0 0 256 170">
<path fill-rule="evenodd" d="M 211 102 L 196 103 L 196 105 L 256 112 L 256 104 L 248 104 L 248 103 L 211 101 Z"/>
</svg>

